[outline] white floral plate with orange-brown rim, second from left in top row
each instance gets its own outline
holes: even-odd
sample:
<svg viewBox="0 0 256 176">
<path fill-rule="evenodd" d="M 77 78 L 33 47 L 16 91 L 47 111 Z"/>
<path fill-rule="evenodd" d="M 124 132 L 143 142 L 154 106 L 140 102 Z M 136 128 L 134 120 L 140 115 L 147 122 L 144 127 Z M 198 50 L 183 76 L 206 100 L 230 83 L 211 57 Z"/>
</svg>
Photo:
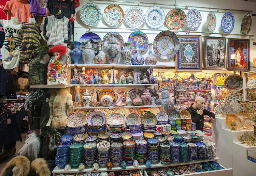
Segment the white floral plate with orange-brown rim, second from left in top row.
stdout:
<svg viewBox="0 0 256 176">
<path fill-rule="evenodd" d="M 104 9 L 103 19 L 109 26 L 118 26 L 124 19 L 124 11 L 117 4 L 109 4 Z"/>
</svg>

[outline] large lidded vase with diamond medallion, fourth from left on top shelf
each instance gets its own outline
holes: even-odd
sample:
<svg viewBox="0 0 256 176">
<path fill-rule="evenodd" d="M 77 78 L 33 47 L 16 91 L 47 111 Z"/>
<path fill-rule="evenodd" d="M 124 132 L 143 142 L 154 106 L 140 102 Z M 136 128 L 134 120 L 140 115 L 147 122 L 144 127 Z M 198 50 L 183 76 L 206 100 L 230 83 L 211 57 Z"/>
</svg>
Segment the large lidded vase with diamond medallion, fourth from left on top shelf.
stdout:
<svg viewBox="0 0 256 176">
<path fill-rule="evenodd" d="M 120 54 L 121 48 L 117 44 L 116 39 L 112 36 L 110 38 L 109 44 L 105 47 L 106 52 L 106 59 L 108 60 L 109 64 L 117 64 Z"/>
</svg>

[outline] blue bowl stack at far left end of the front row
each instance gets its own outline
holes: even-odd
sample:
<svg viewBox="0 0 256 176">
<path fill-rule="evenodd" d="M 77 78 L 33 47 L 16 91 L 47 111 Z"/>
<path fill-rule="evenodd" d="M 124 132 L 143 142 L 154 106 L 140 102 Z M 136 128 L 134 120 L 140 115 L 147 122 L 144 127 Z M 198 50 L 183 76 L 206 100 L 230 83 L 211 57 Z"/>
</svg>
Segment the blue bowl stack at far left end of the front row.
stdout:
<svg viewBox="0 0 256 176">
<path fill-rule="evenodd" d="M 63 144 L 57 146 L 55 155 L 55 164 L 58 167 L 65 167 L 69 162 L 69 144 Z"/>
</svg>

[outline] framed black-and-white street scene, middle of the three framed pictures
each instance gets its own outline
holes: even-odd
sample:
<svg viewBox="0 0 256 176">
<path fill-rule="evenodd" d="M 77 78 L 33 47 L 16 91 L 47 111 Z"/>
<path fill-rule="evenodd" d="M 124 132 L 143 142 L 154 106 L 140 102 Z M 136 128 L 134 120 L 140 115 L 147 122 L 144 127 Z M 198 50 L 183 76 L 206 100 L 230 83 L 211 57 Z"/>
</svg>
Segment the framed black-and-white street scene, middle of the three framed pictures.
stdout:
<svg viewBox="0 0 256 176">
<path fill-rule="evenodd" d="M 205 70 L 226 70 L 226 39 L 204 37 Z"/>
</svg>

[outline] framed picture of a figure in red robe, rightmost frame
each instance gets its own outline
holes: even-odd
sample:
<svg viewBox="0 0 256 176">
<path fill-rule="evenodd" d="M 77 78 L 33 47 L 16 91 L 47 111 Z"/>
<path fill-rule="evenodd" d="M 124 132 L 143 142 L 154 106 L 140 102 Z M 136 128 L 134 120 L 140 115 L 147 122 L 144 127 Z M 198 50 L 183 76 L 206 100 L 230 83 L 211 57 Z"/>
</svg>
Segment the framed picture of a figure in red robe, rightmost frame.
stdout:
<svg viewBox="0 0 256 176">
<path fill-rule="evenodd" d="M 228 69 L 232 71 L 250 71 L 250 40 L 228 39 Z"/>
</svg>

